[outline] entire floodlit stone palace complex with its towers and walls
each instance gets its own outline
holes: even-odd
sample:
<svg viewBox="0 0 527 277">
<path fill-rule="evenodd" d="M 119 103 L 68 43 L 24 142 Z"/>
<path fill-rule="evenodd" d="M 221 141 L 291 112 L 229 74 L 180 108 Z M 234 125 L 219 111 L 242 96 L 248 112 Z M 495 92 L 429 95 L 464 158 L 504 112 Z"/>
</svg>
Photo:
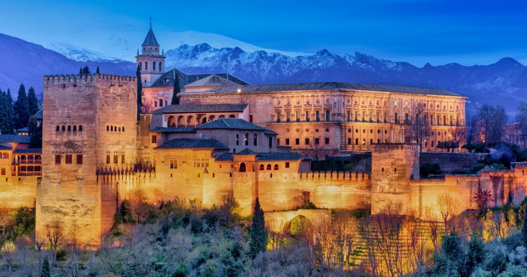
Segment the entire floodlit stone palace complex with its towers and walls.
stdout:
<svg viewBox="0 0 527 277">
<path fill-rule="evenodd" d="M 436 151 L 450 130 L 465 125 L 462 95 L 439 89 L 351 83 L 251 85 L 227 73 L 165 71 L 150 28 L 136 56 L 141 80 L 115 75 L 47 75 L 43 148 L 27 136 L 0 135 L 0 202 L 35 206 L 36 228 L 53 219 L 76 226 L 86 241 L 113 223 L 132 189 L 150 203 L 174 197 L 203 207 L 232 194 L 243 216 L 256 197 L 264 211 L 371 209 L 389 201 L 422 212 L 450 193 L 463 209 L 475 192 L 492 191 L 492 205 L 525 196 L 527 165 L 480 175 L 421 179 L 421 151 Z M 169 104 L 179 78 L 180 104 Z M 137 112 L 137 82 L 143 106 Z M 432 127 L 422 149 L 405 133 L 417 117 Z M 40 121 L 39 121 L 40 122 Z M 311 171 L 326 156 L 371 152 L 370 171 Z M 438 159 L 477 159 L 434 153 Z M 434 156 L 435 157 L 435 156 Z M 31 170 L 30 170 L 31 168 Z"/>
</svg>

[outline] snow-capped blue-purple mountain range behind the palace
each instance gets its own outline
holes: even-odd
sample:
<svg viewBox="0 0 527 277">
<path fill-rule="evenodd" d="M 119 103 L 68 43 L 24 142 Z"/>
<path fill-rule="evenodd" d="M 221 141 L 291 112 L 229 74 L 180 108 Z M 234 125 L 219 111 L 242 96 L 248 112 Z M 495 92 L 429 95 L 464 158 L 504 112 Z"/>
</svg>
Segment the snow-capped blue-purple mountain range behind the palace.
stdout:
<svg viewBox="0 0 527 277">
<path fill-rule="evenodd" d="M 77 73 L 84 65 L 92 72 L 135 74 L 135 63 L 97 56 L 89 49 L 55 47 L 57 53 L 16 37 L 0 34 L 0 89 L 16 93 L 19 83 L 42 92 L 44 74 Z M 77 60 L 86 60 L 79 62 Z M 426 64 L 418 68 L 406 62 L 377 59 L 363 53 L 337 55 L 327 50 L 291 56 L 277 52 L 246 52 L 239 47 L 214 48 L 202 43 L 183 44 L 165 51 L 165 69 L 186 73 L 228 72 L 249 83 L 352 82 L 440 88 L 469 97 L 469 109 L 482 103 L 501 104 L 514 113 L 527 98 L 527 66 L 512 58 L 490 65 Z"/>
</svg>

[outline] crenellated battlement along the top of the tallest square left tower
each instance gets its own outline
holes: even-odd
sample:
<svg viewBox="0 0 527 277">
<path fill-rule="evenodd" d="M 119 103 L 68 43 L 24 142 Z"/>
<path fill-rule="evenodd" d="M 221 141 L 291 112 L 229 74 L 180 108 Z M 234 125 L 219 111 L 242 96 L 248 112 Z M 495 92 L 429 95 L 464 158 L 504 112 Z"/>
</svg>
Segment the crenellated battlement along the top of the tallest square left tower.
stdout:
<svg viewBox="0 0 527 277">
<path fill-rule="evenodd" d="M 44 88 L 73 85 L 93 85 L 96 83 L 124 84 L 125 82 L 135 82 L 135 76 L 121 76 L 113 74 L 61 74 L 44 75 Z M 115 83 L 113 83 L 115 82 Z"/>
</svg>

